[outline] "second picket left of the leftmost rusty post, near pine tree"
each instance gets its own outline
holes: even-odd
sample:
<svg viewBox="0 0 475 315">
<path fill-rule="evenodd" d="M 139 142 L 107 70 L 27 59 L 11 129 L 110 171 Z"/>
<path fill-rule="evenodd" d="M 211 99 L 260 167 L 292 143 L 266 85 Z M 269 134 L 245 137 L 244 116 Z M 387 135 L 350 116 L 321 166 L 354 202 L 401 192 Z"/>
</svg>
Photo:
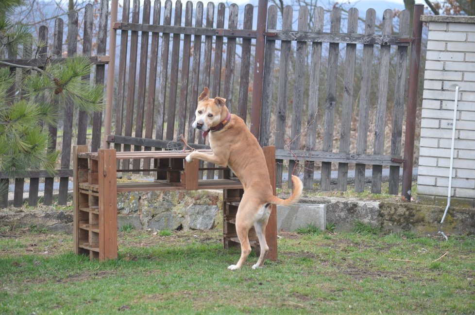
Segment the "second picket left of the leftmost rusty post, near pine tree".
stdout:
<svg viewBox="0 0 475 315">
<path fill-rule="evenodd" d="M 92 51 L 92 22 L 94 7 L 88 3 L 84 11 L 84 33 L 83 33 L 83 56 L 90 57 Z M 83 80 L 89 81 L 90 75 L 85 75 Z M 86 144 L 87 123 L 89 122 L 87 112 L 80 110 L 78 114 L 78 131 L 76 144 Z"/>
</svg>

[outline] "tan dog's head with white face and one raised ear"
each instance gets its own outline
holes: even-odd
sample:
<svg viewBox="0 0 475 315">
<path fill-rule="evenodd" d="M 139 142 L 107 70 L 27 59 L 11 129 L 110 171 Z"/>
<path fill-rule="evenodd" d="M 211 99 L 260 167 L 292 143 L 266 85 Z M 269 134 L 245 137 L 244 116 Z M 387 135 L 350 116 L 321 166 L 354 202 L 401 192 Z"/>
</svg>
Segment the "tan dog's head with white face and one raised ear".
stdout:
<svg viewBox="0 0 475 315">
<path fill-rule="evenodd" d="M 195 111 L 195 121 L 191 126 L 202 131 L 210 130 L 226 118 L 228 113 L 224 108 L 226 108 L 226 100 L 222 97 L 210 99 L 209 89 L 205 87 L 198 98 L 198 107 Z M 223 114 L 224 118 L 222 118 Z"/>
</svg>

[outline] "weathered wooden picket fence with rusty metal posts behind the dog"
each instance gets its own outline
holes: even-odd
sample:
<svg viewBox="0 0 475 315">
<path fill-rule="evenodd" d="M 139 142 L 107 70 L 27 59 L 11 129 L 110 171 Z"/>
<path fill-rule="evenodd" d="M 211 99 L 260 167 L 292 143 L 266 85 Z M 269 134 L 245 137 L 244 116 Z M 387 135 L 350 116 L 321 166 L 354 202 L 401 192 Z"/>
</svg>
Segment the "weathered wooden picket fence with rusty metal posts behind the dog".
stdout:
<svg viewBox="0 0 475 315">
<path fill-rule="evenodd" d="M 330 190 L 332 163 L 338 163 L 336 189 L 346 191 L 348 170 L 354 164 L 355 190 L 360 192 L 365 189 L 365 169 L 372 165 L 372 192 L 380 192 L 383 166 L 389 166 L 390 193 L 397 194 L 403 162 L 407 52 L 411 43 L 409 12 L 403 11 L 399 25 L 393 25 L 392 11 L 385 11 L 381 30 L 376 32 L 376 14 L 369 9 L 361 33 L 356 9 L 348 11 L 347 29 L 341 30 L 340 8 L 325 14 L 321 7 L 312 12 L 301 7 L 294 25 L 292 7 L 282 8 L 278 18 L 279 9 L 271 5 L 265 12 L 266 40 L 261 47 L 254 45 L 258 35 L 253 25 L 254 11 L 250 4 L 241 13 L 236 4 L 227 7 L 224 3 L 209 2 L 204 9 L 202 2 L 193 7 L 188 1 L 183 7 L 179 0 L 174 5 L 166 0 L 163 6 L 160 0 L 155 0 L 153 6 L 150 0 L 142 3 L 134 0 L 132 5 L 130 0 L 124 0 L 121 21 L 112 22 L 120 35 L 114 135 L 108 135 L 108 141 L 118 151 L 157 150 L 166 149 L 170 141 L 184 135 L 188 143 L 204 147 L 201 134 L 189 126 L 194 119 L 196 100 L 205 86 L 210 88 L 212 96 L 226 98 L 231 112 L 249 123 L 253 119 L 249 113 L 255 87 L 254 56 L 257 50 L 265 50 L 258 138 L 262 146 L 277 148 L 277 182 L 283 182 L 287 168 L 288 174 L 297 172 L 303 176 L 305 188 L 313 188 L 315 163 L 321 162 L 319 189 Z M 282 24 L 278 25 L 280 20 Z M 329 21 L 329 29 L 325 21 Z M 398 30 L 397 34 L 394 29 Z M 104 51 L 97 53 L 96 82 L 101 82 L 104 76 L 104 65 L 99 59 L 105 55 L 105 31 L 103 45 Z M 362 51 L 362 59 L 358 50 Z M 74 53 L 71 51 L 70 55 Z M 389 87 L 390 75 L 395 76 L 391 81 L 395 82 L 394 87 Z M 337 90 L 341 78 L 343 89 Z M 389 90 L 393 93 L 390 97 Z M 390 115 L 387 108 L 392 110 Z M 97 116 L 93 151 L 103 137 L 99 128 L 101 115 Z M 357 130 L 352 131 L 356 117 Z M 66 121 L 65 126 L 70 128 Z M 389 153 L 384 150 L 387 126 L 391 128 Z M 369 138 L 370 129 L 374 136 Z M 84 143 L 79 141 L 81 130 L 84 129 L 78 130 L 77 143 Z M 339 135 L 335 135 L 335 130 Z M 61 183 L 70 176 L 71 139 L 67 142 L 65 133 L 66 130 Z M 317 141 L 317 135 L 322 141 Z M 369 145 L 368 139 L 373 143 Z M 350 145 L 352 141 L 356 142 L 356 150 Z M 334 152 L 336 146 L 338 152 Z M 373 152 L 367 152 L 368 147 Z M 133 163 L 125 160 L 119 168 L 134 172 L 139 165 Z M 141 163 L 147 168 L 150 161 Z M 212 166 L 208 169 L 205 176 L 216 175 Z M 30 181 L 39 177 L 47 176 L 38 172 Z M 60 195 L 64 196 L 64 191 Z M 15 198 L 16 205 L 19 198 Z M 31 197 L 30 204 L 36 200 Z M 51 202 L 46 189 L 43 202 Z M 65 199 L 60 197 L 59 202 Z"/>
</svg>

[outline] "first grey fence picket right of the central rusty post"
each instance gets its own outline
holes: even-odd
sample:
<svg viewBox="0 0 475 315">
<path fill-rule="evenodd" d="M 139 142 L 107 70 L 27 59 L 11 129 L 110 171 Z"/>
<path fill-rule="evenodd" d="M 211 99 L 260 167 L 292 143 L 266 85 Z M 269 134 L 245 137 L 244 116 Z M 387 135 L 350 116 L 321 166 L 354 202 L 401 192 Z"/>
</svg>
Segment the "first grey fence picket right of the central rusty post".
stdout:
<svg viewBox="0 0 475 315">
<path fill-rule="evenodd" d="M 271 5 L 267 11 L 267 27 L 275 28 L 277 25 L 277 7 Z M 267 39 L 264 54 L 264 74 L 262 89 L 261 120 L 259 131 L 259 144 L 261 146 L 269 145 L 271 137 L 271 108 L 272 108 L 272 88 L 273 72 L 275 63 L 275 40 Z"/>
</svg>

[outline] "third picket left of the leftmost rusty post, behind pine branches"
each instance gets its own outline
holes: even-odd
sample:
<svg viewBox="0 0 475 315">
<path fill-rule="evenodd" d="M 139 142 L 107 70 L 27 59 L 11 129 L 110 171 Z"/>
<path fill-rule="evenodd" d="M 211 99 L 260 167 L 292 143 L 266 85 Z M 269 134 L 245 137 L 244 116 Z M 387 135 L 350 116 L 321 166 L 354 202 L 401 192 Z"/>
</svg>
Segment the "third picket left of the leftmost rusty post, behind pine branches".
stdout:
<svg viewBox="0 0 475 315">
<path fill-rule="evenodd" d="M 74 57 L 77 52 L 78 38 L 78 13 L 76 11 L 69 12 L 68 21 L 68 57 Z M 71 144 L 72 144 L 72 123 L 74 116 L 74 103 L 66 99 L 64 104 L 63 116 L 63 144 L 61 152 L 61 168 L 70 168 L 71 160 Z M 69 177 L 61 177 L 59 179 L 58 204 L 66 205 L 68 203 L 68 185 Z"/>
</svg>

